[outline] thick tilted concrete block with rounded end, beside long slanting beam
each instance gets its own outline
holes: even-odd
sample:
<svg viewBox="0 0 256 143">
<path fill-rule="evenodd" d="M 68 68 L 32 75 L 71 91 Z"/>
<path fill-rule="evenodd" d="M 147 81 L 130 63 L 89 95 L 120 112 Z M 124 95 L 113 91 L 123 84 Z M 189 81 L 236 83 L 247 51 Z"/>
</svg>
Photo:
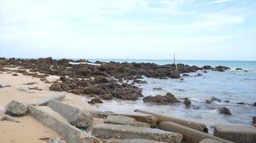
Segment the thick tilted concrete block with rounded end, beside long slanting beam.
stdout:
<svg viewBox="0 0 256 143">
<path fill-rule="evenodd" d="M 70 106 L 56 100 L 50 100 L 47 104 L 55 112 L 61 114 L 70 124 L 76 127 L 86 128 L 93 123 L 93 117 L 91 113 L 85 109 Z"/>
</svg>

